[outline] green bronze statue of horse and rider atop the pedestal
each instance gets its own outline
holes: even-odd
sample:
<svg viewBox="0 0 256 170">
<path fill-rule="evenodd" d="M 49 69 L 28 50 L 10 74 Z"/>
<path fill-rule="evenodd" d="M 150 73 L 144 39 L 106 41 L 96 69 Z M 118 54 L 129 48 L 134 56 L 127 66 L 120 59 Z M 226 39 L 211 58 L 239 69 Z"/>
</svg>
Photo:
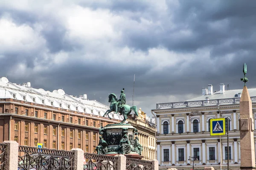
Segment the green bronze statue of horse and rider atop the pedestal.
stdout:
<svg viewBox="0 0 256 170">
<path fill-rule="evenodd" d="M 125 97 L 125 89 L 123 88 L 121 91 L 120 99 L 117 99 L 116 94 L 109 94 L 108 95 L 108 102 L 110 102 L 110 109 L 106 111 L 106 113 L 103 115 L 103 117 L 108 113 L 114 112 L 114 113 L 120 113 L 120 115 L 124 116 L 124 119 L 121 123 L 124 123 L 127 119 L 127 115 L 131 113 L 131 111 L 134 111 L 136 116 L 139 116 L 137 112 L 137 106 L 129 106 L 126 105 L 126 97 Z M 108 118 L 111 119 L 108 115 Z"/>
</svg>

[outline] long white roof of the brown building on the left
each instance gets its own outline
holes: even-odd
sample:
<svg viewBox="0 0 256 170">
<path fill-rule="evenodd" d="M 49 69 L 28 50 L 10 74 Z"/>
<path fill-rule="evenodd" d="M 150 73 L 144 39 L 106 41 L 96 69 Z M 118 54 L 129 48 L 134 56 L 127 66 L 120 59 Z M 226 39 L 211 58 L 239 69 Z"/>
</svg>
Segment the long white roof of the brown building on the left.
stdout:
<svg viewBox="0 0 256 170">
<path fill-rule="evenodd" d="M 62 89 L 59 89 L 58 91 L 54 90 L 53 92 L 45 91 L 41 88 L 36 89 L 17 85 L 16 83 L 9 81 L 7 82 L 5 77 L 0 79 L 0 98 L 24 100 L 26 102 L 34 102 L 41 105 L 64 108 L 71 111 L 85 112 L 99 116 L 103 116 L 109 109 L 108 106 L 97 102 L 96 100 L 82 99 L 67 95 Z M 123 116 L 114 113 L 110 113 L 109 116 L 114 119 L 123 119 Z"/>
</svg>

